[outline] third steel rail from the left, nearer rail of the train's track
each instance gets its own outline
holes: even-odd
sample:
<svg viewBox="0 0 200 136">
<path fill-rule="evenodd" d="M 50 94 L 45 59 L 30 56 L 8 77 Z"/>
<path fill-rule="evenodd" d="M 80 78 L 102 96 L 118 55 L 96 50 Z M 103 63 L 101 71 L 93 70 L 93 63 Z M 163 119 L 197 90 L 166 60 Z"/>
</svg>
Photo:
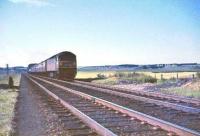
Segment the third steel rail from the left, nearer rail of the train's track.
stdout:
<svg viewBox="0 0 200 136">
<path fill-rule="evenodd" d="M 161 100 L 154 100 L 154 99 L 146 98 L 146 97 L 143 97 L 143 96 L 136 96 L 136 95 L 133 95 L 133 94 L 127 94 L 127 93 L 117 92 L 117 91 L 103 89 L 103 88 L 96 88 L 96 87 L 89 86 L 89 85 L 77 84 L 77 83 L 73 83 L 73 82 L 67 82 L 67 81 L 52 79 L 52 78 L 50 78 L 50 79 L 55 80 L 55 81 L 57 80 L 57 81 L 60 81 L 60 82 L 63 82 L 63 83 L 68 83 L 68 84 L 71 84 L 71 85 L 76 85 L 76 86 L 81 86 L 81 87 L 85 87 L 85 88 L 89 88 L 89 89 L 98 90 L 98 91 L 105 92 L 105 93 L 110 93 L 110 94 L 113 94 L 113 95 L 116 95 L 116 96 L 121 96 L 121 97 L 126 97 L 126 98 L 129 98 L 129 99 L 134 99 L 134 100 L 138 100 L 138 101 L 153 103 L 155 105 L 159 105 L 159 106 L 161 105 L 161 106 L 169 107 L 169 108 L 172 108 L 172 109 L 181 110 L 181 111 L 184 111 L 184 112 L 190 112 L 190 113 L 195 113 L 195 114 L 200 113 L 200 109 L 198 109 L 198 108 L 193 108 L 193 107 L 184 106 L 184 105 L 180 105 L 180 104 L 174 104 L 174 103 L 170 103 L 170 102 L 164 102 L 164 101 L 161 101 Z"/>
</svg>

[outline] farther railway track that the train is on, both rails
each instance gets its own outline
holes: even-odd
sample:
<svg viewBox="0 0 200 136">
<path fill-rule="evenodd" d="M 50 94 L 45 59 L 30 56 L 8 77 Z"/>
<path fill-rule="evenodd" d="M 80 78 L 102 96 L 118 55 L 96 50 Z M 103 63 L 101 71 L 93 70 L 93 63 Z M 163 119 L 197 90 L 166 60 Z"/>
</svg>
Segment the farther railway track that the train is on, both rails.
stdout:
<svg viewBox="0 0 200 136">
<path fill-rule="evenodd" d="M 166 95 L 155 92 L 146 91 L 134 91 L 130 92 L 127 89 L 120 89 L 116 87 L 111 87 L 107 85 L 93 84 L 81 81 L 67 82 L 63 80 L 52 79 L 48 77 L 41 77 L 47 80 L 52 80 L 54 82 L 68 83 L 70 85 L 76 85 L 79 87 L 84 87 L 88 89 L 95 89 L 98 91 L 103 91 L 107 93 L 112 93 L 118 96 L 124 96 L 130 99 L 137 99 L 144 102 L 154 103 L 156 105 L 163 105 L 165 107 L 170 107 L 176 110 L 182 110 L 185 112 L 200 113 L 200 100 L 191 99 L 185 97 L 177 97 L 172 95 Z"/>
</svg>

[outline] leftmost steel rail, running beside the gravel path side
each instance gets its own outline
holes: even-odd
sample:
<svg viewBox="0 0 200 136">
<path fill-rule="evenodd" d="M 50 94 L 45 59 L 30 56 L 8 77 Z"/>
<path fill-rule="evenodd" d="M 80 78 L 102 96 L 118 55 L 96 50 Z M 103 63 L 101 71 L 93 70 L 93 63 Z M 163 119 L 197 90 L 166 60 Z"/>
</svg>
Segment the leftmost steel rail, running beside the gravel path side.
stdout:
<svg viewBox="0 0 200 136">
<path fill-rule="evenodd" d="M 103 127 L 101 124 L 97 123 L 95 120 L 91 119 L 89 116 L 85 115 L 81 111 L 79 111 L 77 108 L 71 106 L 66 101 L 59 98 L 57 95 L 49 91 L 47 88 L 39 84 L 34 79 L 27 76 L 28 79 L 30 79 L 32 82 L 34 82 L 36 85 L 38 85 L 41 89 L 43 89 L 48 95 L 59 101 L 65 108 L 67 108 L 69 111 L 71 111 L 74 115 L 76 115 L 80 120 L 82 120 L 85 124 L 87 124 L 90 128 L 94 129 L 99 135 L 102 136 L 117 136 L 112 131 L 108 130 L 107 128 Z"/>
</svg>

